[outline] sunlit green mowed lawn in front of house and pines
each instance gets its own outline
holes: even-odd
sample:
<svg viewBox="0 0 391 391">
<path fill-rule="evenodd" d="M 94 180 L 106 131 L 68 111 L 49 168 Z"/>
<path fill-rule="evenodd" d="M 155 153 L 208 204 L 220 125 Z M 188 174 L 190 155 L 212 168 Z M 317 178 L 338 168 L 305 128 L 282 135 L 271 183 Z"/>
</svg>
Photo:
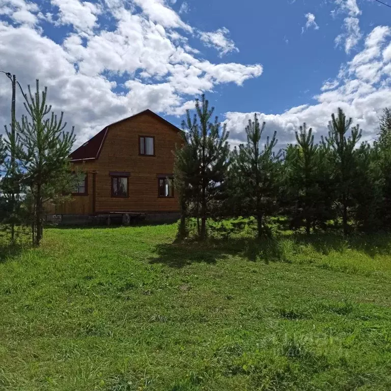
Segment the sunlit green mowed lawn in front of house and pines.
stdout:
<svg viewBox="0 0 391 391">
<path fill-rule="evenodd" d="M 1 390 L 389 390 L 391 236 L 47 229 L 0 263 Z"/>
</svg>

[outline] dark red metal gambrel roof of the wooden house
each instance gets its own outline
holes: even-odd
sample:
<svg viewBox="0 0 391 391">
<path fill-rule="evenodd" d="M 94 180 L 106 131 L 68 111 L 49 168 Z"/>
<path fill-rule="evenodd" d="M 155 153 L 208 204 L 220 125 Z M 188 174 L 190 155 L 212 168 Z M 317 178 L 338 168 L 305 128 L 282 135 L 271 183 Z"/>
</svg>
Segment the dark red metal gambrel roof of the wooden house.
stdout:
<svg viewBox="0 0 391 391">
<path fill-rule="evenodd" d="M 158 116 L 155 114 L 153 111 L 150 109 L 141 111 L 140 113 L 137 113 L 133 116 L 124 118 L 120 121 L 114 122 L 108 126 L 106 126 L 104 129 L 102 129 L 99 133 L 95 134 L 94 137 L 90 138 L 89 141 L 84 143 L 81 147 L 77 148 L 74 150 L 70 155 L 71 161 L 76 161 L 76 160 L 87 160 L 87 159 L 97 159 L 99 157 L 100 151 L 103 147 L 104 141 L 106 139 L 109 127 L 114 124 L 118 124 L 119 122 L 128 120 L 130 118 L 134 118 L 136 116 L 139 116 L 141 114 L 150 114 L 155 117 L 157 117 L 160 121 L 165 122 L 167 125 L 172 126 L 172 128 L 176 131 L 181 131 L 179 128 L 177 128 L 175 125 L 173 125 L 171 122 L 165 120 L 164 118 Z"/>
</svg>

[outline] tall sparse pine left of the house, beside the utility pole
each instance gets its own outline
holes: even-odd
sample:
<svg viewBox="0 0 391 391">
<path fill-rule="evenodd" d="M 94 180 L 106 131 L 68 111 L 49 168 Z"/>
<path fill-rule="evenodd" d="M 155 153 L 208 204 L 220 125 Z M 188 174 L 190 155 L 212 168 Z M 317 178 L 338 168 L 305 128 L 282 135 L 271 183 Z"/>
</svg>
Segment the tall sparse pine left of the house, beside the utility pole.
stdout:
<svg viewBox="0 0 391 391">
<path fill-rule="evenodd" d="M 62 192 L 69 191 L 74 184 L 68 158 L 75 140 L 73 128 L 70 132 L 64 131 L 64 113 L 58 118 L 51 112 L 46 94 L 46 87 L 40 92 L 38 80 L 34 94 L 29 86 L 29 94 L 24 97 L 27 115 L 22 116 L 21 123 L 16 123 L 20 140 L 18 159 L 28 187 L 26 199 L 32 202 L 35 245 L 42 239 L 44 203 L 61 197 Z"/>
</svg>

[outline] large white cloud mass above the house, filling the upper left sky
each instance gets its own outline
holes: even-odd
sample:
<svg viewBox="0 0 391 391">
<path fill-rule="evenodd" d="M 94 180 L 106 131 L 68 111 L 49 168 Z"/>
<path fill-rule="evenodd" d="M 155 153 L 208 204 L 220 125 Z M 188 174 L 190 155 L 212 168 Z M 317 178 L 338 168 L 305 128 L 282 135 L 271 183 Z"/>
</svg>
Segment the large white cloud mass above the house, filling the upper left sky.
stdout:
<svg viewBox="0 0 391 391">
<path fill-rule="evenodd" d="M 77 145 L 107 123 L 146 108 L 182 115 L 194 95 L 222 83 L 240 86 L 263 71 L 259 64 L 203 59 L 188 45 L 188 36 L 194 38 L 198 30 L 163 0 L 105 0 L 104 7 L 51 0 L 51 6 L 45 9 L 46 22 L 68 29 L 55 41 L 40 24 L 37 4 L 0 0 L 0 13 L 10 20 L 0 21 L 0 68 L 15 73 L 24 88 L 39 78 L 53 109 L 64 110 L 65 120 L 75 125 Z M 21 23 L 18 10 L 35 15 L 35 24 Z M 109 28 L 99 25 L 98 16 L 109 18 Z M 24 113 L 20 95 L 17 102 L 19 117 Z M 10 122 L 9 103 L 9 80 L 1 78 L 3 124 Z"/>
</svg>

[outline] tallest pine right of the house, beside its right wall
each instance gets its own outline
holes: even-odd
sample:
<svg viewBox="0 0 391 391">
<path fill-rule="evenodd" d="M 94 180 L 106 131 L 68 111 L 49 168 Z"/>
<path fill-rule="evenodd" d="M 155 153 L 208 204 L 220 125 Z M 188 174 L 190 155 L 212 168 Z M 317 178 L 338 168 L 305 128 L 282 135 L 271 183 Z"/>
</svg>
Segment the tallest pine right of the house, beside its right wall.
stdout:
<svg viewBox="0 0 391 391">
<path fill-rule="evenodd" d="M 229 132 L 215 117 L 211 122 L 214 108 L 209 109 L 209 102 L 202 96 L 195 100 L 193 118 L 187 110 L 186 121 L 182 128 L 186 145 L 177 153 L 177 171 L 184 178 L 183 194 L 195 205 L 197 216 L 201 217 L 199 237 L 206 237 L 206 220 L 213 200 L 220 191 L 229 165 Z"/>
</svg>

